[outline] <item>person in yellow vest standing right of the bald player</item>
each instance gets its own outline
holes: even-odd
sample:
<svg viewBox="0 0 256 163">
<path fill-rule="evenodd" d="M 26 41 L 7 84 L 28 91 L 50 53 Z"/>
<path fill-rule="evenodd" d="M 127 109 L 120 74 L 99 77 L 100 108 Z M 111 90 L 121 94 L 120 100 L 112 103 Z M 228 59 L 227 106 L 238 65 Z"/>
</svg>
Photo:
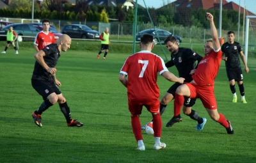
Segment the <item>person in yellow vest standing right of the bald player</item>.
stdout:
<svg viewBox="0 0 256 163">
<path fill-rule="evenodd" d="M 101 50 L 100 50 L 99 54 L 97 55 L 97 59 L 100 58 L 100 53 L 104 52 L 104 50 L 105 50 L 104 57 L 103 57 L 104 60 L 106 59 L 106 56 L 108 54 L 108 46 L 110 43 L 108 31 L 109 31 L 108 27 L 106 27 L 105 31 L 100 35 Z"/>
</svg>

